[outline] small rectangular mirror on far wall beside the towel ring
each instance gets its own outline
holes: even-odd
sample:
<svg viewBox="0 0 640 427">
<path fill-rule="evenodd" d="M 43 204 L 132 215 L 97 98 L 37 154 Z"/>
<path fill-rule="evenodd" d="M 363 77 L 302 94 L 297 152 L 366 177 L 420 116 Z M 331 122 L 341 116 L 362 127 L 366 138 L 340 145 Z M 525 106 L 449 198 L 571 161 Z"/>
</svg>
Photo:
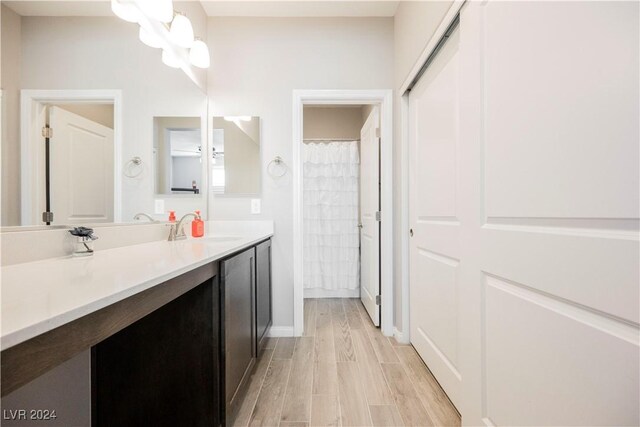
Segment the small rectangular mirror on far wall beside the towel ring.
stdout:
<svg viewBox="0 0 640 427">
<path fill-rule="evenodd" d="M 211 186 L 214 193 L 259 194 L 262 185 L 260 163 L 260 117 L 214 117 Z"/>
</svg>

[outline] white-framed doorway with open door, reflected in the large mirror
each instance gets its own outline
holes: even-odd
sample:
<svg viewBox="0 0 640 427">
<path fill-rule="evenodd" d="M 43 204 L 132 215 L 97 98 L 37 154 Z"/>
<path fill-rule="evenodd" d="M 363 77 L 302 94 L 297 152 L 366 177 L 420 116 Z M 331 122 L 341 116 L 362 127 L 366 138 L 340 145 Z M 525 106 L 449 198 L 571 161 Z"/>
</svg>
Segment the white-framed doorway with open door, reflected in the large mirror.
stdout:
<svg viewBox="0 0 640 427">
<path fill-rule="evenodd" d="M 120 99 L 120 91 L 22 91 L 22 225 L 120 220 Z"/>
</svg>

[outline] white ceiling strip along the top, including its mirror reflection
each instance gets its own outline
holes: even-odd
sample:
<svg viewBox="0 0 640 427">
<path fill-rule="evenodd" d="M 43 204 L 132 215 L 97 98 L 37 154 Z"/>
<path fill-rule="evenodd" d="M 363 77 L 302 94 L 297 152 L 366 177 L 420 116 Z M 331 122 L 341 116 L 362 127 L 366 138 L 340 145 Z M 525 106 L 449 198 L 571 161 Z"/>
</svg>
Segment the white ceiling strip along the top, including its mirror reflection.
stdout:
<svg viewBox="0 0 640 427">
<path fill-rule="evenodd" d="M 23 16 L 112 16 L 109 1 L 105 0 L 13 0 L 2 3 Z M 200 3 L 208 16 L 390 17 L 400 2 L 201 0 Z"/>
</svg>

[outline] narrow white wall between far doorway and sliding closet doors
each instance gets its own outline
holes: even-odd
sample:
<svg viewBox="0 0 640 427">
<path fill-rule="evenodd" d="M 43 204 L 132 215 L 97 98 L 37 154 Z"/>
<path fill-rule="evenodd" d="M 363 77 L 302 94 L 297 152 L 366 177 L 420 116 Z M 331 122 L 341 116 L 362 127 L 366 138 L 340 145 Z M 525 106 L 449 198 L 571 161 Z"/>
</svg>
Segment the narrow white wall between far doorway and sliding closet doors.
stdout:
<svg viewBox="0 0 640 427">
<path fill-rule="evenodd" d="M 401 266 L 402 256 L 400 252 L 400 237 L 407 230 L 401 228 L 401 206 L 402 199 L 400 193 L 400 177 L 402 171 L 402 150 L 401 150 L 401 123 L 400 123 L 400 102 L 402 94 L 400 86 L 407 79 L 411 69 L 418 62 L 418 59 L 425 47 L 431 40 L 433 33 L 442 22 L 453 1 L 402 1 L 400 2 L 394 17 L 394 146 L 393 146 L 393 168 L 395 191 L 393 193 L 393 206 L 395 208 L 393 217 L 394 224 L 394 284 L 395 284 L 395 325 L 399 331 L 403 330 L 402 325 L 402 278 Z"/>
</svg>

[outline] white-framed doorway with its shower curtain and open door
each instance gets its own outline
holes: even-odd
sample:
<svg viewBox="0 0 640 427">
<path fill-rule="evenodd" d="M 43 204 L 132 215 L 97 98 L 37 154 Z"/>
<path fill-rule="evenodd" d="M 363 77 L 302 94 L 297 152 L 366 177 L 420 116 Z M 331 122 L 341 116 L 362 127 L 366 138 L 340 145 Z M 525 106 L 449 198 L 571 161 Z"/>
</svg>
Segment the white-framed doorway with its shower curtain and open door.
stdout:
<svg viewBox="0 0 640 427">
<path fill-rule="evenodd" d="M 391 91 L 294 92 L 296 336 L 318 298 L 393 335 L 391 135 Z"/>
</svg>

